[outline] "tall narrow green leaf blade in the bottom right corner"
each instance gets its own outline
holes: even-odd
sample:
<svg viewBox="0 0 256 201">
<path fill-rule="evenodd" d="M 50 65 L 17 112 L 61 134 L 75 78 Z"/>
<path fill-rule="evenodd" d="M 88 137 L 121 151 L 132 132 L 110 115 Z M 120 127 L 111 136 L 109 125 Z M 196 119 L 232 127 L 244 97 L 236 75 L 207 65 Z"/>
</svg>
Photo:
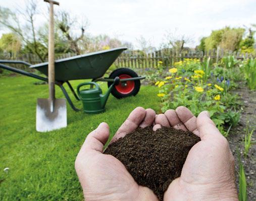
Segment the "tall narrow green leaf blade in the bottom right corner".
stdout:
<svg viewBox="0 0 256 201">
<path fill-rule="evenodd" d="M 238 155 L 239 158 L 239 194 L 238 198 L 239 201 L 247 201 L 247 184 L 246 184 L 246 177 L 244 172 L 244 167 L 241 161 L 240 154 Z"/>
</svg>

